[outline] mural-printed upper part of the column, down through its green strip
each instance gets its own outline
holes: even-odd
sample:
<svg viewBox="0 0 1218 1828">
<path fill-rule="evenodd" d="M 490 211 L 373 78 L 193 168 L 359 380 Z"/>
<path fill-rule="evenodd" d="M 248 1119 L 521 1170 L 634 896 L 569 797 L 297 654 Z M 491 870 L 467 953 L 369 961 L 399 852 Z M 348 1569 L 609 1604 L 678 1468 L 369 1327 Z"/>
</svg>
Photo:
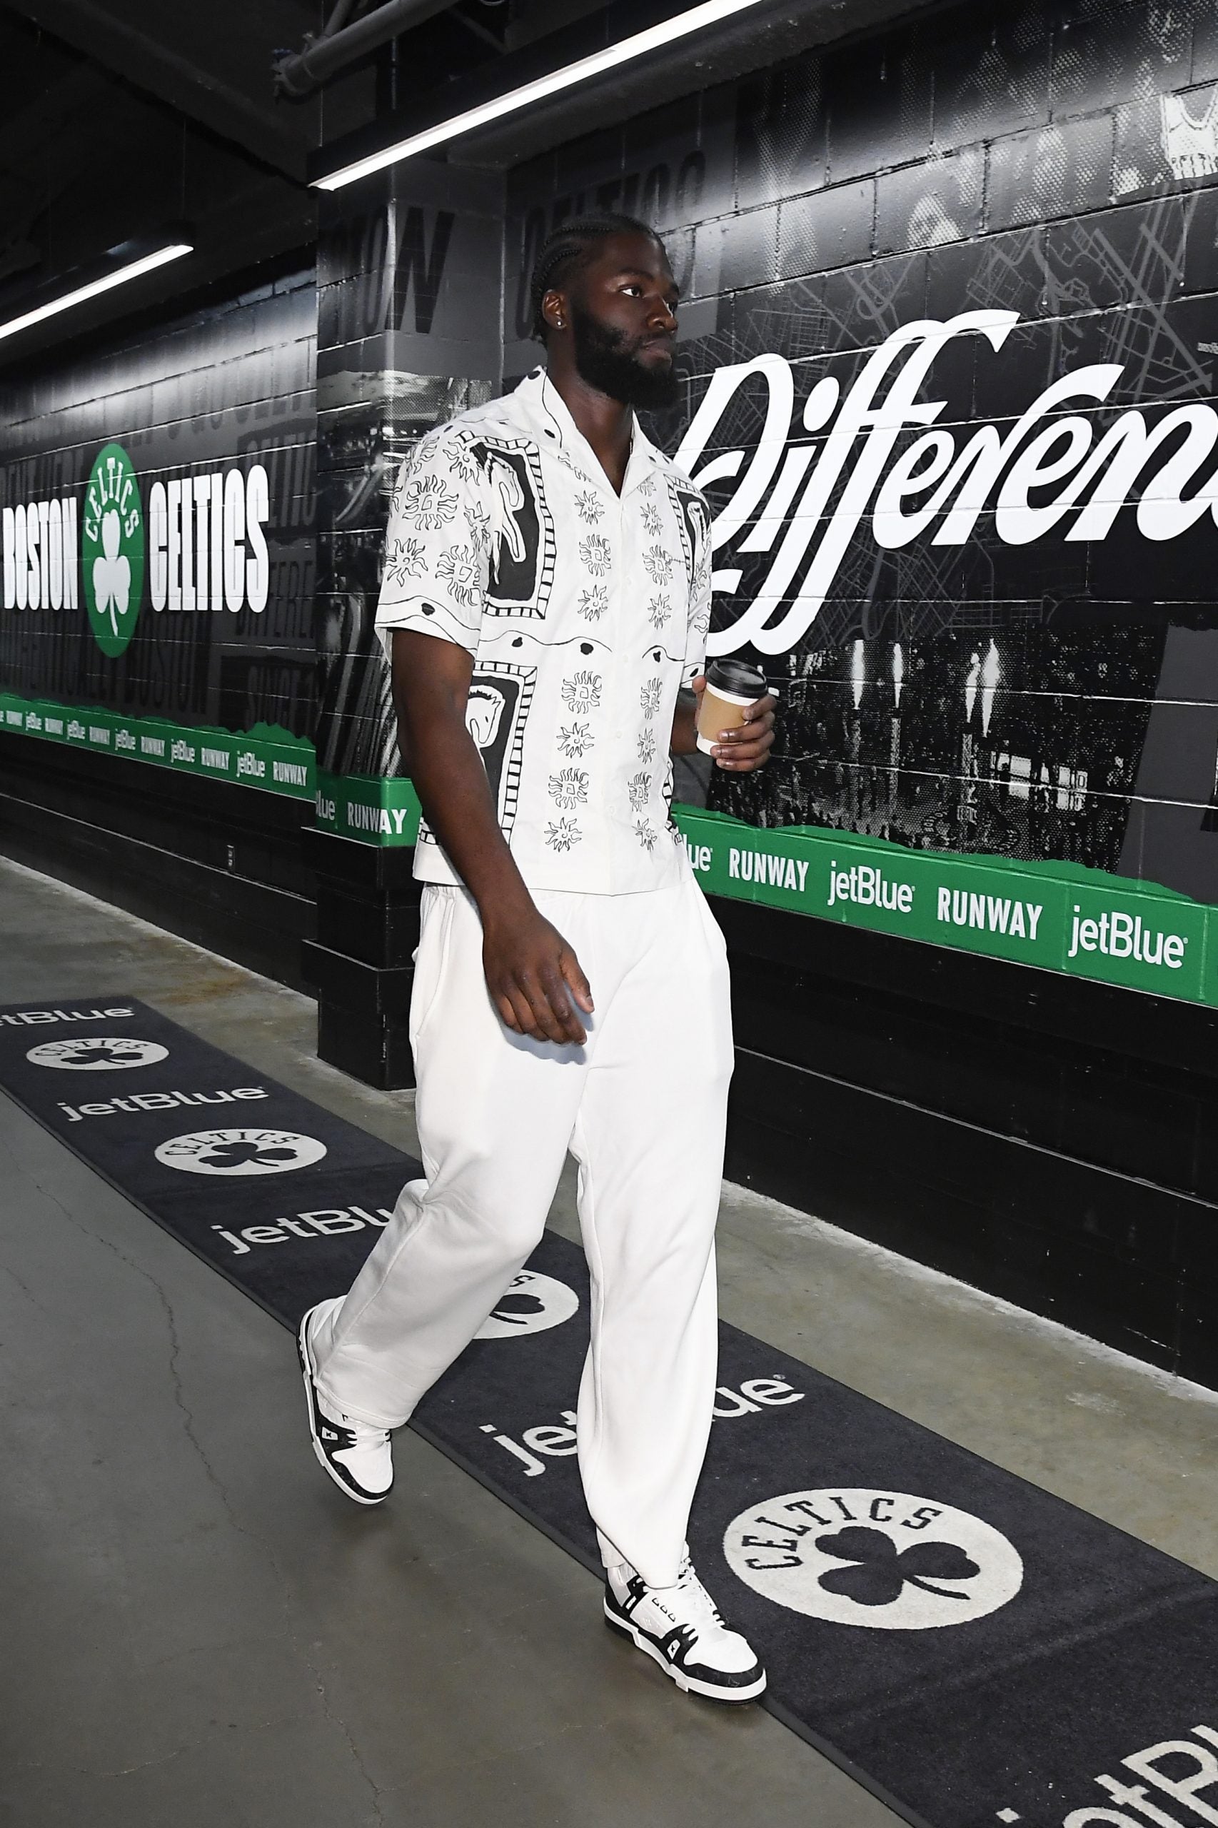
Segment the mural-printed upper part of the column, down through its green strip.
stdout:
<svg viewBox="0 0 1218 1828">
<path fill-rule="evenodd" d="M 408 161 L 322 205 L 318 234 L 318 824 L 413 843 L 373 629 L 390 499 L 435 426 L 497 393 L 503 181 Z M 516 579 L 523 589 L 523 579 Z"/>
</svg>

